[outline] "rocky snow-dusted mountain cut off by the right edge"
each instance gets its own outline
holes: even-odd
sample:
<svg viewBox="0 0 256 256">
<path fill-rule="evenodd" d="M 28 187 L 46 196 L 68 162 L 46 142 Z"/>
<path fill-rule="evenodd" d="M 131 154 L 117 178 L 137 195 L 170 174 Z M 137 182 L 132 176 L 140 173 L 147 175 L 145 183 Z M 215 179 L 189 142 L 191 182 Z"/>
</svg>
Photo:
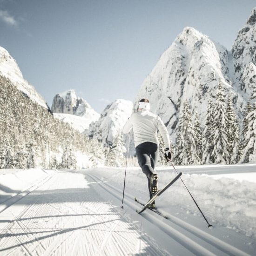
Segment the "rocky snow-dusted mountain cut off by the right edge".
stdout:
<svg viewBox="0 0 256 256">
<path fill-rule="evenodd" d="M 245 26 L 239 30 L 232 54 L 234 85 L 248 101 L 256 84 L 256 8 L 252 10 Z"/>
</svg>

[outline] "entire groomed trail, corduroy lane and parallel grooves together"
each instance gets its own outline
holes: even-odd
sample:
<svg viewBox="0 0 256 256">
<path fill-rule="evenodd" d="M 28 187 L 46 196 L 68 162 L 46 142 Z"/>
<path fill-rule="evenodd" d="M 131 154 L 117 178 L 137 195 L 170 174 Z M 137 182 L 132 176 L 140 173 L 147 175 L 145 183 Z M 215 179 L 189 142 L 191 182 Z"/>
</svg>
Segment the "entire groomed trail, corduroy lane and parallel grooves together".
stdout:
<svg viewBox="0 0 256 256">
<path fill-rule="evenodd" d="M 122 192 L 93 171 L 51 171 L 2 208 L 0 256 L 253 255 L 206 223 L 199 229 L 164 211 L 168 220 L 137 214 L 135 195 L 126 193 L 121 209 Z"/>
</svg>

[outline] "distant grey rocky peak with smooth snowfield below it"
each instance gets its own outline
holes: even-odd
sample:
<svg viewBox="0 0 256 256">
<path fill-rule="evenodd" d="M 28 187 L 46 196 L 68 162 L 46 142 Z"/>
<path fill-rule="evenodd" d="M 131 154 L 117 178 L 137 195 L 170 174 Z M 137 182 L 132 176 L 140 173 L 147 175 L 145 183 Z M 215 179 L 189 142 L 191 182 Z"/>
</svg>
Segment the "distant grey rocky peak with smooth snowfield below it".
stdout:
<svg viewBox="0 0 256 256">
<path fill-rule="evenodd" d="M 88 129 L 90 123 L 100 117 L 100 114 L 86 100 L 78 97 L 74 90 L 56 94 L 51 110 L 56 118 L 69 123 L 80 132 Z"/>
</svg>

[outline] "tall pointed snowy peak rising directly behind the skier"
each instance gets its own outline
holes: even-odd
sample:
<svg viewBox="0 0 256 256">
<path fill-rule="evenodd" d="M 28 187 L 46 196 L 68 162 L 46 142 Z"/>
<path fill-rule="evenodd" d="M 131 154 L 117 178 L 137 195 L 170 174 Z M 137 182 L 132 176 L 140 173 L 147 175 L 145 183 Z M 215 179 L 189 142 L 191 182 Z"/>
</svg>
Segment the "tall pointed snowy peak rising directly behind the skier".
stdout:
<svg viewBox="0 0 256 256">
<path fill-rule="evenodd" d="M 185 101 L 190 103 L 192 113 L 199 114 L 203 125 L 207 103 L 215 98 L 219 82 L 236 101 L 243 102 L 230 85 L 228 63 L 225 47 L 185 27 L 143 82 L 135 102 L 148 98 L 152 111 L 162 117 L 170 134 L 175 133 Z"/>
</svg>

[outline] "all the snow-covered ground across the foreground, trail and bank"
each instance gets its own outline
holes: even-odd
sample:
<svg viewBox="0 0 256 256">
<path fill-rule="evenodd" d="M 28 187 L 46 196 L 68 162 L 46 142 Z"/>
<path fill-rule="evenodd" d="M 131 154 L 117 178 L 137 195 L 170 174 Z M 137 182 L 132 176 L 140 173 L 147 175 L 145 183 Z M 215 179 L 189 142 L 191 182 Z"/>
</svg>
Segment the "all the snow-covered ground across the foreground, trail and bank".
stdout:
<svg viewBox="0 0 256 256">
<path fill-rule="evenodd" d="M 176 175 L 156 171 L 160 187 Z M 177 171 L 213 229 L 180 180 L 156 200 L 169 220 L 138 215 L 139 168 L 127 169 L 124 209 L 124 168 L 1 170 L 0 255 L 255 255 L 256 164 Z"/>
</svg>

